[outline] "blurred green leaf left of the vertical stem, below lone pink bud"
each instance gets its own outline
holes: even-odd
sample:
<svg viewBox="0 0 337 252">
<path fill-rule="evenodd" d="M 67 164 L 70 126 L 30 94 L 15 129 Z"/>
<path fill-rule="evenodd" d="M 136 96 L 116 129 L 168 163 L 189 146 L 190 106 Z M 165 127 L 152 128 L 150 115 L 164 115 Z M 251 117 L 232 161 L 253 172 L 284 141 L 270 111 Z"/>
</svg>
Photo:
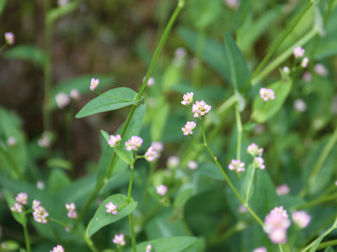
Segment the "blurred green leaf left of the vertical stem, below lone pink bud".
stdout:
<svg viewBox="0 0 337 252">
<path fill-rule="evenodd" d="M 37 48 L 35 45 L 16 45 L 15 47 L 6 50 L 4 57 L 7 59 L 22 59 L 33 62 L 43 67 L 46 62 L 44 51 Z"/>
</svg>

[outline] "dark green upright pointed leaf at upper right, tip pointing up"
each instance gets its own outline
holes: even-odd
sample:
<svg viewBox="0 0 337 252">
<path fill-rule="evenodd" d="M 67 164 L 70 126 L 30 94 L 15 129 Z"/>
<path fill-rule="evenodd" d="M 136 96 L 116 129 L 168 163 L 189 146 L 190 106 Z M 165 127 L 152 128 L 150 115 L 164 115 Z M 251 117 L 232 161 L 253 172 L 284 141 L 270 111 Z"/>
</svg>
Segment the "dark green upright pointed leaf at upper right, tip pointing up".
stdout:
<svg viewBox="0 0 337 252">
<path fill-rule="evenodd" d="M 250 73 L 246 64 L 246 59 L 234 39 L 228 32 L 225 33 L 225 52 L 227 62 L 230 66 L 230 79 L 235 90 L 242 92 L 246 83 L 248 83 Z"/>
</svg>

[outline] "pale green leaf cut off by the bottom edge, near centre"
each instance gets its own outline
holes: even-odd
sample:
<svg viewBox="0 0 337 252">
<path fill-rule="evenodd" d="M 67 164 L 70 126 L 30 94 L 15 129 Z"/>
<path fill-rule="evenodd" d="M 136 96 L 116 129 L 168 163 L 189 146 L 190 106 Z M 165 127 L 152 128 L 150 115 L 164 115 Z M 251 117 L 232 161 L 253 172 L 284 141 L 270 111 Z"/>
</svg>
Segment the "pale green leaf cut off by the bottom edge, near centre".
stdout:
<svg viewBox="0 0 337 252">
<path fill-rule="evenodd" d="M 151 244 L 152 251 L 180 252 L 197 241 L 196 237 L 163 237 L 152 241 L 145 241 L 137 245 L 137 251 L 145 251 L 147 244 Z M 132 251 L 131 249 L 129 251 Z"/>
</svg>

